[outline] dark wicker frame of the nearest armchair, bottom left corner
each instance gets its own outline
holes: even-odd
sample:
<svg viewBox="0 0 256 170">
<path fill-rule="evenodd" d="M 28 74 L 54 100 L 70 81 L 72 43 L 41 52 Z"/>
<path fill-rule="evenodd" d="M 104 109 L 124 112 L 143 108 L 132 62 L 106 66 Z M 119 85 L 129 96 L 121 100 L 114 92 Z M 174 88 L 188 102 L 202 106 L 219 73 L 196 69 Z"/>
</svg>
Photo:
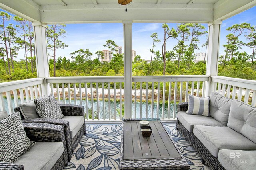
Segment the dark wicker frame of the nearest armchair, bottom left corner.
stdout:
<svg viewBox="0 0 256 170">
<path fill-rule="evenodd" d="M 64 127 L 47 123 L 23 123 L 26 135 L 35 142 L 62 142 L 64 152 L 51 170 L 60 170 L 68 164 L 68 153 L 64 136 Z M 42 155 L 44 156 L 44 155 Z M 0 170 L 24 170 L 23 165 L 0 162 Z"/>
</svg>

